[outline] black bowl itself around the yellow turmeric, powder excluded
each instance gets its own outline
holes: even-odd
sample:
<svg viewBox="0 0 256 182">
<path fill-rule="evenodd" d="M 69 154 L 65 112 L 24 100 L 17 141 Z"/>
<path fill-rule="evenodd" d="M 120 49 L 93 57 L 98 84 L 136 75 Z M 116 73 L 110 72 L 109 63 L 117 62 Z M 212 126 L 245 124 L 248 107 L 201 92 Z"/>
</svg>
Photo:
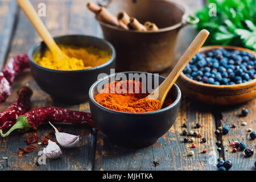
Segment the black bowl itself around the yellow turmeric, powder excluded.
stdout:
<svg viewBox="0 0 256 182">
<path fill-rule="evenodd" d="M 35 44 L 28 52 L 31 73 L 36 83 L 45 92 L 63 104 L 80 104 L 88 99 L 90 86 L 98 79 L 98 75 L 110 74 L 115 67 L 115 49 L 104 39 L 87 35 L 64 35 L 53 38 L 57 44 L 63 46 L 95 47 L 108 51 L 112 56 L 101 65 L 89 69 L 61 71 L 44 68 L 35 62 L 37 55 L 43 55 L 47 46 L 44 42 Z"/>
</svg>

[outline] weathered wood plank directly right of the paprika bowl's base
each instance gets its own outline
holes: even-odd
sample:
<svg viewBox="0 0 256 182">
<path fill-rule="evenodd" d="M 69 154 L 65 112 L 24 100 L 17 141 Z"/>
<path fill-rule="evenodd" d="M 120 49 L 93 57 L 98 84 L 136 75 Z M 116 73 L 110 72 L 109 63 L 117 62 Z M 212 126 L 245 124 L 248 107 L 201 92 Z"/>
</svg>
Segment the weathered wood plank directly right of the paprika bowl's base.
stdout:
<svg viewBox="0 0 256 182">
<path fill-rule="evenodd" d="M 183 98 L 180 112 L 177 115 L 174 126 L 153 147 L 154 160 L 159 165 L 157 170 L 214 170 L 218 158 L 218 152 L 214 147 L 214 118 L 211 109 L 196 101 Z M 195 138 L 196 148 L 192 143 L 184 143 L 182 135 L 183 123 L 187 123 L 188 131 L 197 131 L 207 143 L 202 143 L 202 138 Z M 195 129 L 196 123 L 204 126 Z M 191 138 L 191 137 L 189 137 Z M 203 154 L 202 151 L 207 150 Z M 189 151 L 194 151 L 194 156 L 188 156 Z"/>
</svg>

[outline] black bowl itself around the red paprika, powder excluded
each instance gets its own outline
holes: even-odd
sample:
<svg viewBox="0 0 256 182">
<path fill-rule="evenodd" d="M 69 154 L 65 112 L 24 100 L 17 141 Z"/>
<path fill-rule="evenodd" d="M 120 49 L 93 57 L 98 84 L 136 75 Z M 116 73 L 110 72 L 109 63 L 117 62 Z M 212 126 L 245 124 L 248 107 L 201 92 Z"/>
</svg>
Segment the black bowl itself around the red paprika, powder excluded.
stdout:
<svg viewBox="0 0 256 182">
<path fill-rule="evenodd" d="M 146 78 L 150 76 L 152 78 L 152 88 L 154 88 L 155 79 L 158 79 L 159 84 L 165 79 L 162 76 L 156 75 L 154 77 L 151 73 L 144 72 L 122 72 L 121 74 L 125 74 L 128 78 L 129 73 L 138 73 L 139 75 L 143 73 Z M 172 86 L 166 98 L 166 101 L 172 100 L 172 104 L 169 105 L 166 102 L 166 106 L 163 106 L 160 110 L 147 113 L 127 113 L 112 110 L 99 104 L 95 97 L 101 92 L 99 88 L 103 89 L 106 82 L 112 82 L 114 78 L 115 81 L 119 81 L 118 74 L 120 73 L 101 78 L 90 87 L 89 105 L 92 118 L 96 126 L 108 135 L 113 143 L 119 146 L 130 148 L 151 146 L 174 124 L 180 108 L 180 89 L 176 84 Z"/>
</svg>

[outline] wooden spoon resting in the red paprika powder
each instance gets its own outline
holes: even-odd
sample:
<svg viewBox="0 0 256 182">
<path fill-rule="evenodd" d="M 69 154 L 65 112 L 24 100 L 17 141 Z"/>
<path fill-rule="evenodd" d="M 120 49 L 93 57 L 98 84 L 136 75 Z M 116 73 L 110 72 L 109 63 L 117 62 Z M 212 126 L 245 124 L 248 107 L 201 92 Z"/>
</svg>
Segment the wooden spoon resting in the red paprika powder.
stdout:
<svg viewBox="0 0 256 182">
<path fill-rule="evenodd" d="M 180 76 L 180 73 L 183 71 L 185 66 L 196 55 L 197 51 L 199 51 L 199 49 L 203 46 L 208 35 L 209 32 L 207 30 L 201 30 L 199 34 L 197 34 L 196 38 L 187 48 L 185 53 L 177 61 L 177 64 L 175 65 L 174 69 L 172 69 L 172 72 L 167 76 L 166 80 L 164 80 L 162 84 L 148 96 L 148 98 L 155 98 L 156 96 L 158 96 L 158 98 L 156 99 L 161 102 L 162 107 L 169 90 L 172 88 L 172 85 L 174 85 L 175 81 Z"/>
</svg>

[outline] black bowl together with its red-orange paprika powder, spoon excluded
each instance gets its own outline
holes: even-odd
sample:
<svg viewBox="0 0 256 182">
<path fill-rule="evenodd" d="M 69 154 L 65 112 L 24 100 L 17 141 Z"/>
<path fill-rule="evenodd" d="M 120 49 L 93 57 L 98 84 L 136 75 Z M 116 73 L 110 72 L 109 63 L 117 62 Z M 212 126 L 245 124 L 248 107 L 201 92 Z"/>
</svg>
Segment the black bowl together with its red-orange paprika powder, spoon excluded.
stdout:
<svg viewBox="0 0 256 182">
<path fill-rule="evenodd" d="M 96 81 L 89 90 L 89 105 L 97 127 L 122 147 L 154 144 L 174 124 L 180 108 L 177 85 L 172 86 L 160 110 L 158 100 L 145 99 L 164 79 L 151 73 L 122 72 Z"/>
</svg>

